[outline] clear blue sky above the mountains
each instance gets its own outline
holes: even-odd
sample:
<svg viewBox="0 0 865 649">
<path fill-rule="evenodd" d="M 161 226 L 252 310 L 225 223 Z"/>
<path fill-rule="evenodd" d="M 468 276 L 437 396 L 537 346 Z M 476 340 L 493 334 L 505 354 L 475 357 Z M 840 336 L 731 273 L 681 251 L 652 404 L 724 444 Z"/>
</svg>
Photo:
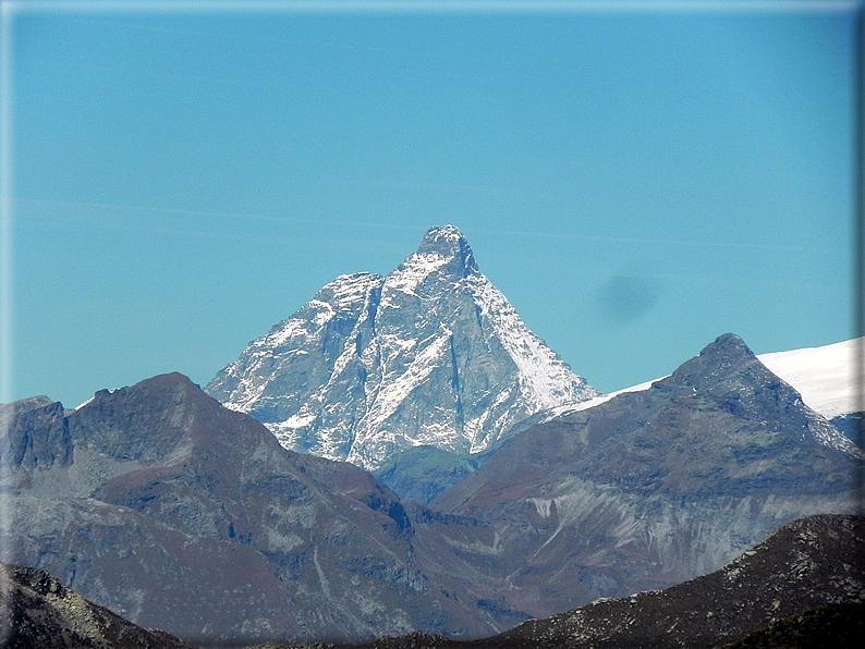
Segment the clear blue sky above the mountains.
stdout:
<svg viewBox="0 0 865 649">
<path fill-rule="evenodd" d="M 853 335 L 855 3 L 27 4 L 5 399 L 204 385 L 444 223 L 601 391 Z"/>
</svg>

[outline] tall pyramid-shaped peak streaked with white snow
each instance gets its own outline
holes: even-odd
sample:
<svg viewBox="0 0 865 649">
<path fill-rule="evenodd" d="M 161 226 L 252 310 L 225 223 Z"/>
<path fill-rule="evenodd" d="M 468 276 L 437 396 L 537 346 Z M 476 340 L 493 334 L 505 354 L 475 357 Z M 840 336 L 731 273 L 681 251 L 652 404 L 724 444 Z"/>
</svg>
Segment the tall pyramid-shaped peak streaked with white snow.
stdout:
<svg viewBox="0 0 865 649">
<path fill-rule="evenodd" d="M 483 452 L 540 411 L 599 394 L 528 330 L 452 225 L 385 277 L 327 284 L 206 392 L 288 449 L 367 469 L 419 445 Z"/>
</svg>

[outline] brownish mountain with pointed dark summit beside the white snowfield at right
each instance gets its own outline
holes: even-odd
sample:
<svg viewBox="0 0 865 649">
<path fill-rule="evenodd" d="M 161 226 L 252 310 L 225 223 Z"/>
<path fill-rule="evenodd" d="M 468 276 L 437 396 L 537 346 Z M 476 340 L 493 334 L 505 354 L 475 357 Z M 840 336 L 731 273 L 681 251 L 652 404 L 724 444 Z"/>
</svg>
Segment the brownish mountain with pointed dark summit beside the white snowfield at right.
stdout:
<svg viewBox="0 0 865 649">
<path fill-rule="evenodd" d="M 486 536 L 449 526 L 431 542 L 503 608 L 547 616 L 717 570 L 796 517 L 855 512 L 862 462 L 728 334 L 649 390 L 508 440 L 429 505 Z"/>
</svg>

